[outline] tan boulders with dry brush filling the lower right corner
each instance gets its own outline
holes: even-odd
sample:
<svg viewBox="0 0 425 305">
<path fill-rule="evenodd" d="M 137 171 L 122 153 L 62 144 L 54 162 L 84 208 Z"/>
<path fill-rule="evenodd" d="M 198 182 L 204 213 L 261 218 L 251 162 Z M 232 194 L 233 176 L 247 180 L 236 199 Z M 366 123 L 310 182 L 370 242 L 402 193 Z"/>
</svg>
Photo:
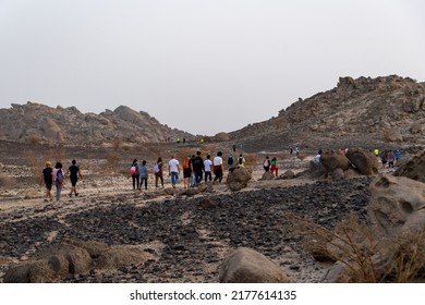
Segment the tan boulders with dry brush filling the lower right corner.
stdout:
<svg viewBox="0 0 425 305">
<path fill-rule="evenodd" d="M 378 175 L 372 181 L 366 227 L 353 230 L 350 239 L 339 237 L 327 244 L 328 249 L 329 245 L 333 247 L 328 258 L 335 257 L 335 245 L 339 255 L 324 281 L 424 280 L 424 164 L 425 150 L 393 175 Z"/>
</svg>

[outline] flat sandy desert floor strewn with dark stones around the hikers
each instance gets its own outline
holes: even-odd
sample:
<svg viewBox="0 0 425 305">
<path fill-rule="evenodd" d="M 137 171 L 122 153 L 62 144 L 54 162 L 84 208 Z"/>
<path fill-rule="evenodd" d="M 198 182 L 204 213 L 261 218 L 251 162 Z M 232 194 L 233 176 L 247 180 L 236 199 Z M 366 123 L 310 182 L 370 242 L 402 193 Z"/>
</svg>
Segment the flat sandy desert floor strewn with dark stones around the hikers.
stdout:
<svg viewBox="0 0 425 305">
<path fill-rule="evenodd" d="M 221 145 L 161 144 L 159 154 L 168 160 L 166 156 L 198 149 L 203 157 L 207 151 L 215 156 L 212 149 L 219 149 L 226 158 L 227 143 Z M 187 190 L 182 180 L 172 188 L 168 173 L 165 187 L 156 188 L 150 174 L 147 191 L 133 191 L 131 161 L 146 159 L 151 169 L 159 151 L 138 149 L 125 148 L 117 159 L 113 147 L 94 151 L 2 143 L 0 280 L 11 266 L 71 239 L 139 246 L 149 259 L 138 266 L 70 273 L 61 282 L 218 282 L 220 263 L 239 247 L 253 248 L 277 263 L 292 282 L 321 282 L 333 263 L 320 263 L 305 249 L 308 237 L 290 215 L 330 230 L 350 215 L 361 220 L 366 216 L 374 176 L 312 179 L 313 151 L 302 151 L 302 158 L 288 151 L 246 154 L 252 179 L 238 192 L 227 186 L 227 171 L 221 184 L 207 182 Z M 84 179 L 78 181 L 77 197 L 68 196 L 66 180 L 61 199 L 46 202 L 38 180 L 44 160 L 53 161 L 56 154 L 61 154 L 65 169 L 77 159 Z M 290 170 L 294 178 L 262 180 L 265 155 L 278 156 L 279 174 Z M 393 170 L 379 168 L 387 174 Z"/>
</svg>

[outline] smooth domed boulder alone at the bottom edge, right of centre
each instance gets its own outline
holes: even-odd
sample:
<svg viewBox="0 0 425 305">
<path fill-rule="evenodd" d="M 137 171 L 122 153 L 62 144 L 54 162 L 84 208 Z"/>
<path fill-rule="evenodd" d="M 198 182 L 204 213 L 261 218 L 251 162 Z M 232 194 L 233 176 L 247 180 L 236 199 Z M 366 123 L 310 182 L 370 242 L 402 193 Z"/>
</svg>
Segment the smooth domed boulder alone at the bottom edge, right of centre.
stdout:
<svg viewBox="0 0 425 305">
<path fill-rule="evenodd" d="M 288 283 L 279 265 L 246 247 L 232 251 L 219 267 L 220 283 Z"/>
</svg>

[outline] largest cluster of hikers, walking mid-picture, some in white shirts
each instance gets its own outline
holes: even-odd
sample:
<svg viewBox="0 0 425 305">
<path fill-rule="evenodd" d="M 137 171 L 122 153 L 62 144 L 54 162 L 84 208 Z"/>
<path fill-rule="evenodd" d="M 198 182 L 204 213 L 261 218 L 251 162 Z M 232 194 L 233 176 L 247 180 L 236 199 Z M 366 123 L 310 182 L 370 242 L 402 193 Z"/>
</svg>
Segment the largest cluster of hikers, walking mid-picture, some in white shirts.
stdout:
<svg viewBox="0 0 425 305">
<path fill-rule="evenodd" d="M 146 160 L 142 161 L 139 166 L 137 159 L 134 159 L 130 167 L 130 174 L 132 178 L 133 190 L 139 190 L 144 187 L 147 190 L 147 182 L 149 178 L 149 170 L 147 168 Z M 230 154 L 227 159 L 229 172 L 233 172 L 236 168 L 245 167 L 245 158 L 242 154 L 238 158 Z M 212 183 L 221 183 L 223 176 L 223 159 L 222 152 L 218 151 L 217 156 L 211 159 L 210 155 L 207 155 L 204 159 L 202 152 L 198 150 L 195 155 L 187 155 L 183 160 L 179 161 L 174 155 L 171 156 L 166 167 L 161 157 L 159 157 L 151 172 L 155 176 L 155 187 L 163 187 L 163 172 L 168 170 L 168 174 L 171 178 L 171 185 L 175 188 L 181 172 L 183 172 L 183 185 L 185 188 L 196 186 L 203 181 Z M 214 179 L 212 179 L 214 173 Z"/>
</svg>

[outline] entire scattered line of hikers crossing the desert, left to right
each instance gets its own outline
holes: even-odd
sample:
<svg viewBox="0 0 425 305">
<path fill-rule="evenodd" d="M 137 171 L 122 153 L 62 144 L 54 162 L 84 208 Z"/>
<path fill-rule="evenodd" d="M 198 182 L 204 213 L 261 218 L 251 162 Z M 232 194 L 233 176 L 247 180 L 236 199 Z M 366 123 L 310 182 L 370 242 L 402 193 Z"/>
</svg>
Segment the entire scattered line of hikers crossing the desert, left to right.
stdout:
<svg viewBox="0 0 425 305">
<path fill-rule="evenodd" d="M 229 170 L 229 173 L 233 172 L 236 168 L 244 168 L 246 162 L 242 152 L 239 154 L 239 157 L 234 156 L 236 155 L 234 154 L 235 145 L 232 148 L 233 152 L 230 152 L 227 158 L 227 168 Z M 348 148 L 340 149 L 339 154 L 345 154 L 347 151 Z M 290 148 L 290 154 L 292 152 L 293 149 Z M 300 154 L 299 147 L 295 148 L 295 154 Z M 321 154 L 323 151 L 321 149 L 319 149 L 319 151 L 315 156 L 316 162 L 319 162 Z M 389 168 L 393 167 L 394 162 L 397 162 L 401 158 L 401 152 L 399 149 L 396 149 L 394 151 L 389 149 L 379 152 L 379 150 L 375 148 L 374 154 L 376 157 L 379 157 L 381 159 L 384 168 L 387 163 Z M 168 170 L 169 176 L 171 178 L 171 185 L 174 188 L 177 187 L 182 171 L 183 185 L 185 188 L 196 186 L 203 181 L 212 181 L 212 183 L 221 183 L 223 178 L 223 154 L 221 151 L 218 151 L 217 156 L 212 159 L 210 155 L 207 155 L 204 159 L 202 157 L 202 152 L 198 150 L 195 155 L 187 155 L 183 160 L 181 160 L 181 163 L 175 158 L 175 156 L 172 155 L 170 160 L 168 161 L 167 167 L 162 158 L 159 157 L 155 161 L 150 171 L 148 169 L 146 160 L 143 160 L 142 164 L 138 164 L 137 162 L 137 159 L 134 159 L 130 168 L 133 190 L 142 191 L 142 188 L 148 188 L 149 172 L 151 172 L 155 176 L 155 187 L 159 187 L 159 184 L 161 187 L 163 187 L 163 172 L 166 170 Z M 265 160 L 263 161 L 263 168 L 265 172 L 270 172 L 274 176 L 279 175 L 279 167 L 276 156 L 274 156 L 271 159 L 269 158 L 269 156 L 266 156 Z M 42 174 L 39 181 L 40 185 L 42 182 L 46 185 L 46 202 L 48 199 L 53 199 L 51 194 L 51 188 L 53 185 L 56 186 L 56 199 L 58 202 L 60 200 L 66 175 L 70 176 L 71 181 L 71 191 L 69 196 L 72 197 L 72 194 L 78 196 L 78 193 L 76 191 L 76 183 L 78 181 L 78 178 L 83 179 L 83 175 L 78 166 L 76 166 L 76 161 L 72 160 L 71 166 L 68 168 L 66 172 L 63 171 L 63 166 L 60 160 L 56 162 L 54 168 L 52 168 L 52 163 L 50 161 L 46 161 L 46 167 L 42 170 Z"/>
</svg>

